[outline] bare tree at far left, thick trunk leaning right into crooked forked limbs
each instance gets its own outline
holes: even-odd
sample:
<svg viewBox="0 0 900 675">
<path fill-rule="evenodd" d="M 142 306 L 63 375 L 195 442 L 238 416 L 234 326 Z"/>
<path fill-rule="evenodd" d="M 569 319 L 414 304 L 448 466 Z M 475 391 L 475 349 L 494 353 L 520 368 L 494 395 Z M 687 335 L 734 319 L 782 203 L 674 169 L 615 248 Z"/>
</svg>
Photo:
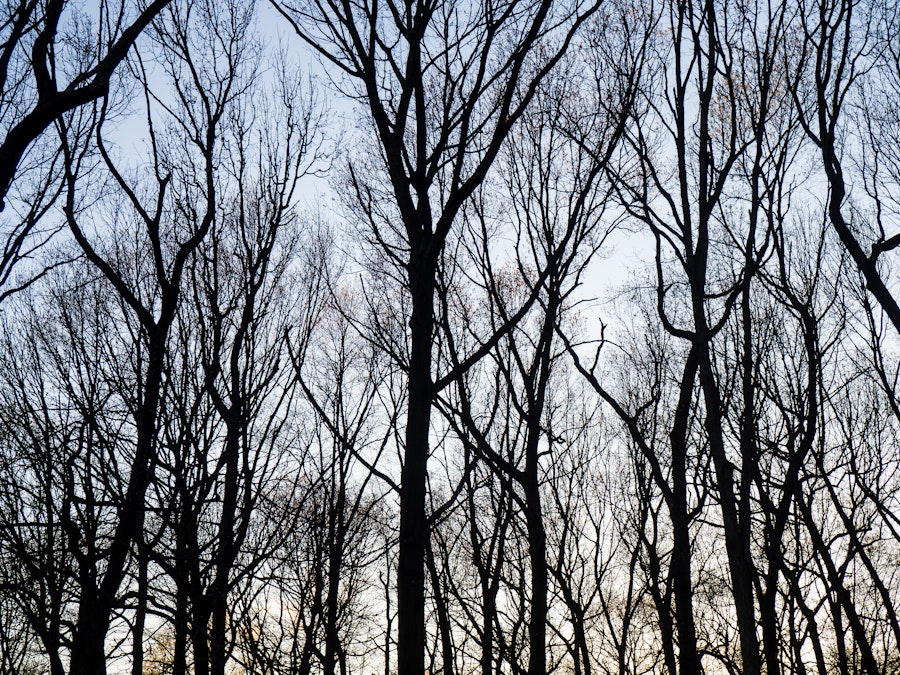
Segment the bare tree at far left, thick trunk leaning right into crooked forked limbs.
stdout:
<svg viewBox="0 0 900 675">
<path fill-rule="evenodd" d="M 225 11 L 223 11 L 223 9 Z M 102 568 L 82 570 L 79 577 L 78 619 L 71 644 L 70 672 L 103 672 L 105 641 L 112 613 L 120 603 L 132 543 L 143 531 L 145 494 L 152 480 L 157 448 L 158 413 L 165 381 L 168 342 L 181 303 L 182 282 L 190 257 L 216 219 L 220 158 L 220 126 L 235 95 L 245 86 L 243 64 L 250 12 L 237 4 L 226 8 L 204 4 L 174 6 L 159 25 L 165 44 L 161 53 L 174 100 L 163 98 L 143 79 L 150 133 L 150 184 L 135 185 L 119 167 L 106 140 L 107 99 L 98 109 L 97 151 L 103 170 L 116 188 L 114 208 L 140 226 L 138 246 L 149 253 L 149 283 L 107 237 L 97 237 L 85 225 L 90 187 L 85 174 L 94 170 L 87 146 L 74 146 L 62 130 L 68 227 L 85 258 L 105 278 L 134 320 L 135 349 L 141 357 L 135 391 L 128 395 L 134 429 L 134 451 L 111 534 L 103 544 Z M 200 24 L 204 30 L 188 32 Z M 200 47 L 209 51 L 202 51 Z M 138 71 L 141 77 L 145 71 Z M 187 77 L 185 77 L 187 76 Z M 156 104 L 158 103 L 158 107 Z M 157 110 L 169 114 L 170 135 L 154 129 Z M 177 129 L 178 136 L 172 135 Z M 152 185 L 152 187 L 151 187 Z M 85 199 L 89 201 L 84 201 Z M 96 228 L 97 220 L 93 220 Z M 121 221 L 120 221 L 121 222 Z M 114 225 L 110 223 L 107 225 Z M 112 229 L 112 228 L 111 228 Z M 96 230 L 95 230 L 96 231 Z M 114 230 L 113 230 L 114 231 Z M 143 248 L 146 247 L 146 248 Z"/>
</svg>

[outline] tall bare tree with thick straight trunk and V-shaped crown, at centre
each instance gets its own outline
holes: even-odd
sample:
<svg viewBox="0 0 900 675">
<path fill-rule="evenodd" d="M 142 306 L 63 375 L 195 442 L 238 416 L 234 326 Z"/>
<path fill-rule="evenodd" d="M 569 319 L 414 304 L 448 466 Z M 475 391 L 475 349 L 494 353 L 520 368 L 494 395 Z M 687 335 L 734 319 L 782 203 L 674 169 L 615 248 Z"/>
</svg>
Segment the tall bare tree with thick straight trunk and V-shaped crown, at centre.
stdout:
<svg viewBox="0 0 900 675">
<path fill-rule="evenodd" d="M 381 166 L 350 184 L 373 244 L 396 267 L 410 302 L 400 478 L 398 672 L 425 655 L 427 461 L 435 391 L 435 284 L 447 237 L 503 141 L 598 3 L 276 3 L 298 35 L 347 79 L 363 104 Z M 378 184 L 375 181 L 382 181 Z M 515 317 L 517 319 L 518 317 Z M 406 317 L 403 319 L 406 323 Z M 511 325 L 514 321 L 510 321 Z M 465 357 L 486 353 L 499 335 Z"/>
</svg>

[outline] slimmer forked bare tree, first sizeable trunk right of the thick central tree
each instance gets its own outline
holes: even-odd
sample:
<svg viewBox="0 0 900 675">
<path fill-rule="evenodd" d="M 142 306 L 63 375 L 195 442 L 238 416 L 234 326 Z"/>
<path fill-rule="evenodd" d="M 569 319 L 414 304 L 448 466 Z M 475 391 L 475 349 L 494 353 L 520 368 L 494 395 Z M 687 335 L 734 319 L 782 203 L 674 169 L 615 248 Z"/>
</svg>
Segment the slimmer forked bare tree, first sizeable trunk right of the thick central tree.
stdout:
<svg viewBox="0 0 900 675">
<path fill-rule="evenodd" d="M 523 646 L 529 659 L 524 670 L 532 675 L 555 667 L 556 661 L 550 607 L 553 556 L 547 548 L 544 507 L 545 462 L 551 460 L 543 458 L 564 461 L 567 449 L 577 443 L 576 425 L 559 412 L 574 401 L 563 398 L 568 388 L 561 365 L 565 349 L 557 333 L 577 306 L 585 271 L 614 222 L 607 220 L 605 211 L 604 167 L 624 131 L 646 38 L 646 24 L 631 23 L 624 7 L 611 7 L 602 24 L 617 33 L 616 59 L 603 51 L 612 43 L 590 33 L 586 46 L 596 62 L 565 59 L 559 79 L 540 88 L 503 153 L 502 177 L 486 186 L 467 212 L 471 233 L 460 249 L 471 250 L 465 255 L 454 251 L 439 275 L 438 295 L 446 308 L 441 312 L 443 339 L 453 369 L 465 358 L 462 340 L 471 339 L 467 333 L 473 323 L 467 310 L 470 301 L 453 279 L 479 279 L 492 326 L 511 323 L 520 307 L 537 298 L 491 351 L 487 372 L 473 371 L 471 379 L 460 377 L 452 396 L 439 397 L 442 412 L 472 456 L 490 466 L 501 485 L 508 485 L 499 494 L 508 494 L 521 512 L 512 527 L 523 527 L 520 536 L 528 542 L 527 562 L 523 561 L 529 577 L 522 599 L 523 605 L 527 599 L 522 608 L 527 616 Z M 602 48 L 596 48 L 597 43 Z M 606 107 L 585 109 L 585 100 L 603 100 Z M 495 195 L 501 185 L 499 194 L 508 196 L 502 202 L 505 214 L 498 216 L 485 193 Z M 504 226 L 516 242 L 508 266 L 494 262 L 491 245 Z M 459 271 L 466 257 L 473 260 L 474 272 Z M 454 316 L 456 312 L 460 315 Z M 520 517 L 524 522 L 518 522 Z M 564 593 L 571 590 L 568 585 L 562 588 Z M 575 610 L 569 618 L 579 629 L 580 609 L 573 595 L 567 604 Z M 586 658 L 584 639 L 581 643 L 576 670 Z"/>
</svg>

